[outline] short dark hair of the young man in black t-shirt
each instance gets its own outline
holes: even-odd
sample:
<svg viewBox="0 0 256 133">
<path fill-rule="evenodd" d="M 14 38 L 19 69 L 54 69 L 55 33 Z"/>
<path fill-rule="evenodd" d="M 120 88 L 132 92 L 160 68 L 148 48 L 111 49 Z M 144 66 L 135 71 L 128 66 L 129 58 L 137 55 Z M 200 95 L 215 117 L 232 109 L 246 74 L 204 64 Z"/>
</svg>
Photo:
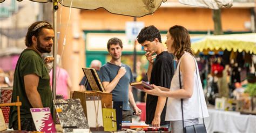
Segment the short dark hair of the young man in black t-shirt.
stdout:
<svg viewBox="0 0 256 133">
<path fill-rule="evenodd" d="M 142 31 L 139 32 L 139 35 L 137 36 L 137 40 L 140 44 L 142 44 L 145 41 L 152 42 L 156 38 L 159 40 L 159 42 L 162 42 L 160 31 L 153 25 L 144 27 Z"/>
</svg>

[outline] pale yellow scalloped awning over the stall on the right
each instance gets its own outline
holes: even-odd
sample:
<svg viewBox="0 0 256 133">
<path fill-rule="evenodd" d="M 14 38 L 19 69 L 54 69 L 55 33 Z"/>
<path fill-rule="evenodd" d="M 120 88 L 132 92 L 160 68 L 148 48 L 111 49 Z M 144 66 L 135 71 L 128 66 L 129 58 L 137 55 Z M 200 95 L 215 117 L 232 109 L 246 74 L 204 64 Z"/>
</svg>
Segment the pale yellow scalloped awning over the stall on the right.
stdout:
<svg viewBox="0 0 256 133">
<path fill-rule="evenodd" d="M 245 51 L 256 54 L 256 33 L 207 35 L 203 39 L 192 42 L 194 53 L 207 50 Z"/>
</svg>

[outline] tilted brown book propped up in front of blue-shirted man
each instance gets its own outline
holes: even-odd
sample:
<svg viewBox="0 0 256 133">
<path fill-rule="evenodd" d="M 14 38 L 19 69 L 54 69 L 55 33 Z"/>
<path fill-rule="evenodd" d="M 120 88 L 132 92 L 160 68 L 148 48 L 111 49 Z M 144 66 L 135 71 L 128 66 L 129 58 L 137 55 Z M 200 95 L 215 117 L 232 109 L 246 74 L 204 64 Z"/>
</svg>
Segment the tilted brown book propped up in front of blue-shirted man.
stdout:
<svg viewBox="0 0 256 133">
<path fill-rule="evenodd" d="M 82 68 L 82 69 L 84 71 L 84 75 L 87 78 L 92 90 L 105 92 L 96 69 L 94 68 Z"/>
</svg>

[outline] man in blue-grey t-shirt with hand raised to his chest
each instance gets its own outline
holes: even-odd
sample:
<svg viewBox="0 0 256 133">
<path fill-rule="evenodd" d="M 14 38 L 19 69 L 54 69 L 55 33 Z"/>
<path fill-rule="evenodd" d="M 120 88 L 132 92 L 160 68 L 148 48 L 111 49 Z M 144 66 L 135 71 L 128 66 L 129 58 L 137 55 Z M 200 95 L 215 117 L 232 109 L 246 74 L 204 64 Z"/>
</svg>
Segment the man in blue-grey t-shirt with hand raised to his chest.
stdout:
<svg viewBox="0 0 256 133">
<path fill-rule="evenodd" d="M 107 42 L 107 50 L 111 55 L 110 62 L 107 62 L 100 68 L 100 79 L 106 92 L 111 92 L 113 101 L 123 102 L 123 116 L 122 121 L 132 121 L 131 109 L 128 102 L 130 102 L 133 111 L 136 115 L 142 113 L 134 101 L 132 88 L 130 83 L 133 82 L 131 68 L 121 62 L 123 51 L 123 43 L 118 38 L 111 38 Z"/>
</svg>

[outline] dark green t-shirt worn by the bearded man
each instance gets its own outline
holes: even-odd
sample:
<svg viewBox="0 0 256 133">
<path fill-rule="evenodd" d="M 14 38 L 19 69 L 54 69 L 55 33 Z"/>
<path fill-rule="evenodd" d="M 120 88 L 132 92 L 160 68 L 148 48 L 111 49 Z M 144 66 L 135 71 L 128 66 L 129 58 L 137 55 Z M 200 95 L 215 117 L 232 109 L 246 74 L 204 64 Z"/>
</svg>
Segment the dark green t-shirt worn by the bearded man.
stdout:
<svg viewBox="0 0 256 133">
<path fill-rule="evenodd" d="M 32 108 L 25 92 L 24 76 L 36 74 L 39 76 L 37 91 L 41 96 L 44 107 L 52 107 L 52 92 L 50 88 L 50 76 L 46 69 L 46 65 L 42 57 L 34 50 L 25 49 L 19 56 L 14 73 L 14 87 L 11 102 L 22 102 L 21 119 L 32 118 L 30 108 Z M 12 127 L 12 122 L 17 120 L 17 107 L 13 106 L 10 109 L 9 128 Z"/>
</svg>

